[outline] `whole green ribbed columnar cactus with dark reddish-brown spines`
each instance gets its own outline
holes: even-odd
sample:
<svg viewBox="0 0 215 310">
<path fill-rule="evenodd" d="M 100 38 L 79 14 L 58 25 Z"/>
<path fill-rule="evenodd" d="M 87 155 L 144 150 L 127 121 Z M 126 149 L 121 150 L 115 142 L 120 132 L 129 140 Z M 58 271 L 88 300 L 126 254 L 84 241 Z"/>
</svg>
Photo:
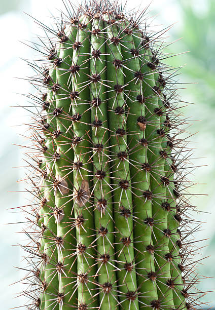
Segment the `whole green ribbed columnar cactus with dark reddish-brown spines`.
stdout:
<svg viewBox="0 0 215 310">
<path fill-rule="evenodd" d="M 190 154 L 166 29 L 108 0 L 65 8 L 56 29 L 40 23 L 30 63 L 27 308 L 193 309 Z"/>
</svg>

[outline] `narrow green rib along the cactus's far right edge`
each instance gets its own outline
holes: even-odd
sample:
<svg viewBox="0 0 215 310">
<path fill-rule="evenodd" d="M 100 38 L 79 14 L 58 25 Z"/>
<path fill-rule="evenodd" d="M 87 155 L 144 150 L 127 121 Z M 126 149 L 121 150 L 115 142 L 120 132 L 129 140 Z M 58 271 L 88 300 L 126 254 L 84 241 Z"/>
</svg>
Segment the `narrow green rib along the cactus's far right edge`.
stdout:
<svg viewBox="0 0 215 310">
<path fill-rule="evenodd" d="M 161 73 L 156 74 L 157 84 L 156 86 L 163 90 L 165 87 L 165 80 Z M 184 282 L 182 279 L 182 271 L 178 267 L 181 263 L 180 247 L 182 246 L 180 241 L 180 233 L 178 233 L 178 227 L 180 226 L 181 217 L 177 213 L 176 199 L 177 192 L 175 192 L 174 185 L 174 159 L 171 157 L 171 150 L 174 146 L 172 138 L 169 136 L 171 129 L 171 123 L 167 113 L 167 107 L 169 103 L 166 100 L 166 96 L 162 93 L 159 96 L 159 108 L 161 113 L 161 130 L 165 133 L 163 137 L 162 147 L 165 149 L 167 157 L 165 159 L 164 172 L 166 181 L 169 183 L 166 186 L 166 197 L 163 201 L 163 205 L 166 206 L 168 211 L 168 229 L 169 233 L 169 253 L 172 255 L 172 261 L 170 264 L 170 279 L 167 279 L 169 288 L 173 292 L 173 302 L 175 308 L 183 308 L 185 306 L 185 297 L 182 294 Z M 175 195 L 176 193 L 176 195 Z"/>
</svg>

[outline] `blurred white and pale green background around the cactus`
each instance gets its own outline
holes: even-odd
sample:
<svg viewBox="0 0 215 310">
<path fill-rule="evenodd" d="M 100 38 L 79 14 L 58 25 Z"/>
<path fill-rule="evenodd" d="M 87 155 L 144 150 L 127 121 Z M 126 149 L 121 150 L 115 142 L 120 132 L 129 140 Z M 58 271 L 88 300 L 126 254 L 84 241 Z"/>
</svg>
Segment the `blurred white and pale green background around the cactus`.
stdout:
<svg viewBox="0 0 215 310">
<path fill-rule="evenodd" d="M 151 1 L 128 0 L 128 8 L 139 4 L 142 9 Z M 32 18 L 24 12 L 38 18 L 45 24 L 51 24 L 51 14 L 59 16 L 63 9 L 61 0 L 8 0 L 0 1 L 0 86 L 1 86 L 1 113 L 0 113 L 0 175 L 1 175 L 1 226 L 0 226 L 0 290 L 1 308 L 9 309 L 21 306 L 22 298 L 15 298 L 16 293 L 22 290 L 20 284 L 10 284 L 18 281 L 22 271 L 13 266 L 21 266 L 22 251 L 20 244 L 24 235 L 20 234 L 19 222 L 23 218 L 16 209 L 25 203 L 24 183 L 17 180 L 24 178 L 20 167 L 24 165 L 22 152 L 14 144 L 26 144 L 25 124 L 30 113 L 18 105 L 27 105 L 26 98 L 21 94 L 30 91 L 26 76 L 32 74 L 31 68 L 22 59 L 32 59 L 37 53 L 21 42 L 29 44 L 35 41 L 37 35 L 42 33 Z M 215 290 L 215 1 L 214 0 L 154 0 L 151 3 L 151 16 L 155 22 L 163 27 L 173 25 L 168 32 L 168 41 L 176 41 L 169 47 L 169 52 L 183 53 L 168 61 L 174 66 L 184 65 L 181 70 L 180 90 L 182 100 L 193 102 L 184 108 L 186 118 L 192 124 L 189 129 L 192 134 L 194 147 L 194 166 L 202 166 L 195 170 L 195 185 L 192 192 L 201 195 L 194 196 L 192 202 L 197 206 L 197 221 L 202 222 L 202 228 L 196 238 L 204 240 L 199 243 L 202 247 L 197 251 L 196 259 L 208 256 L 197 265 L 197 270 L 202 276 L 198 284 L 199 290 Z M 181 40 L 178 40 L 180 39 Z M 20 79 L 23 78 L 23 79 Z M 207 194 L 207 196 L 205 196 Z M 10 210 L 8 210 L 10 208 Z M 215 307 L 215 292 L 208 293 L 202 301 L 209 301 L 202 308 Z M 21 307 L 24 309 L 24 307 Z M 51 309 L 50 309 L 51 310 Z"/>
</svg>

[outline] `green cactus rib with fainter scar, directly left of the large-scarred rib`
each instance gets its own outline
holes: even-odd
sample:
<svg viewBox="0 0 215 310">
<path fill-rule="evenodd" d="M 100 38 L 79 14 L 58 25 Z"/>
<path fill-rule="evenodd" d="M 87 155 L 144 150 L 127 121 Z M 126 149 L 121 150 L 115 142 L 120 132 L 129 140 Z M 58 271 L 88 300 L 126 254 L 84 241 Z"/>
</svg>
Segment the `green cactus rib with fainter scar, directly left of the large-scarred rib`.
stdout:
<svg viewBox="0 0 215 310">
<path fill-rule="evenodd" d="M 77 34 L 77 26 L 69 25 L 61 32 L 59 45 L 59 58 L 56 67 L 57 93 L 56 93 L 56 131 L 55 131 L 55 207 L 57 222 L 58 243 L 58 278 L 60 308 L 69 309 L 70 304 L 77 302 L 77 292 L 74 289 L 77 273 L 76 263 L 76 231 L 71 219 L 73 211 L 73 159 L 74 151 L 71 144 L 73 131 L 73 118 L 71 114 L 70 93 L 71 66 L 73 58 L 73 44 Z"/>
</svg>

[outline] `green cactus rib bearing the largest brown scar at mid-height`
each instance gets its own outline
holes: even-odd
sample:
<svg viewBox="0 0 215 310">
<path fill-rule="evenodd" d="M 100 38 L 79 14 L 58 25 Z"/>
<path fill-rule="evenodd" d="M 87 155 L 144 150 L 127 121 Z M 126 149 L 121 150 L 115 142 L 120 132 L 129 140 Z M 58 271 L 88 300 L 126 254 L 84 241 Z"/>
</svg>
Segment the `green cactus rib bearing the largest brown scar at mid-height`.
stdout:
<svg viewBox="0 0 215 310">
<path fill-rule="evenodd" d="M 79 68 L 72 81 L 74 90 L 78 91 L 76 103 L 73 103 L 73 114 L 80 115 L 80 121 L 73 124 L 74 132 L 74 162 L 82 164 L 82 169 L 74 171 L 74 212 L 76 218 L 77 244 L 84 252 L 77 258 L 77 285 L 79 304 L 96 306 L 93 301 L 95 285 L 93 276 L 96 273 L 94 265 L 93 242 L 94 217 L 90 198 L 92 165 L 89 161 L 90 152 L 90 91 L 88 84 L 92 82 L 89 67 L 85 61 L 89 58 L 91 22 L 87 15 L 80 18 L 80 24 L 74 44 L 73 65 Z M 86 55 L 88 54 L 88 56 Z M 90 80 L 90 82 L 89 82 Z M 93 82 L 92 82 L 93 83 Z"/>
</svg>

